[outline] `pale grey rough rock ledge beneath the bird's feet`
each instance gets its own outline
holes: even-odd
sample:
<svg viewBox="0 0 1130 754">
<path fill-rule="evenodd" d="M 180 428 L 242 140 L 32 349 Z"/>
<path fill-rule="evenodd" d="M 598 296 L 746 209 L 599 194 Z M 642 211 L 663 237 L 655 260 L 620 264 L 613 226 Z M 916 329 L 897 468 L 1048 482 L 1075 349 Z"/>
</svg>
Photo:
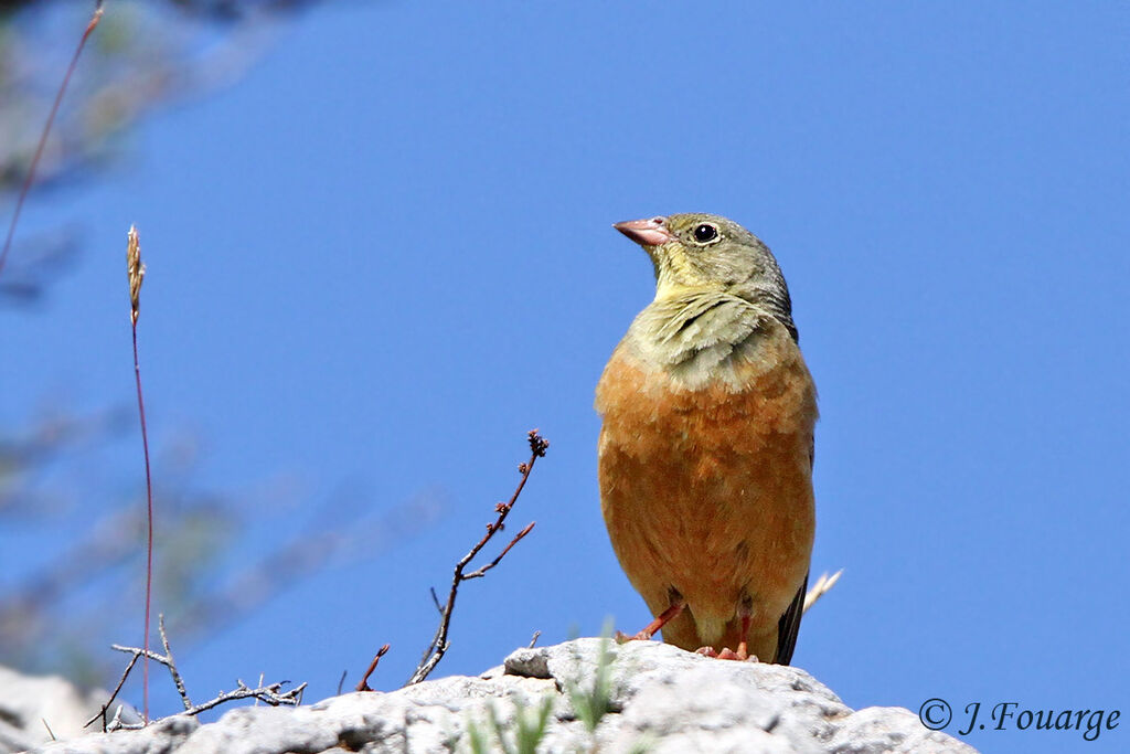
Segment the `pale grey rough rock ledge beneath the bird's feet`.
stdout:
<svg viewBox="0 0 1130 754">
<path fill-rule="evenodd" d="M 0 719 L 11 712 L 5 696 Z M 42 725 L 27 722 L 23 731 L 12 728 L 11 740 Z M 0 752 L 11 751 L 3 743 L 0 737 Z M 800 668 L 599 639 L 521 649 L 478 677 L 344 694 L 296 709 L 244 707 L 207 725 L 177 716 L 144 730 L 89 734 L 35 751 L 974 753 L 927 730 L 906 709 L 852 710 Z"/>
</svg>

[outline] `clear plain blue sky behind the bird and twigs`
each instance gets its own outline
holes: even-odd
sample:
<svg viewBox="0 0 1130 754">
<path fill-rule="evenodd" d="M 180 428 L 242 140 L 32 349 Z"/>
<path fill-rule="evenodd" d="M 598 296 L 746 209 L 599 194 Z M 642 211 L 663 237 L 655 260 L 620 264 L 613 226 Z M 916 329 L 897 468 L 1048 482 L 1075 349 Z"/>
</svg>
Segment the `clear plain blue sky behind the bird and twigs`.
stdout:
<svg viewBox="0 0 1130 754">
<path fill-rule="evenodd" d="M 467 584 L 438 671 L 534 630 L 642 626 L 599 513 L 592 392 L 653 281 L 610 224 L 713 211 L 776 253 L 820 391 L 812 570 L 845 573 L 794 662 L 853 707 L 1130 714 L 1125 8 L 605 5 L 334 3 L 236 86 L 148 120 L 128 168 L 33 200 L 24 232 L 78 222 L 88 251 L 46 306 L 0 311 L 2 421 L 47 388 L 132 399 L 137 223 L 157 442 L 191 426 L 193 484 L 282 478 L 306 501 L 258 511 L 249 547 L 342 485 L 373 510 L 446 501 L 380 560 L 181 652 L 190 686 L 262 671 L 323 697 L 384 642 L 374 685 L 399 685 L 428 587 L 534 426 L 553 447 L 513 515 L 538 526 Z M 114 478 L 137 451 L 111 453 Z"/>
</svg>

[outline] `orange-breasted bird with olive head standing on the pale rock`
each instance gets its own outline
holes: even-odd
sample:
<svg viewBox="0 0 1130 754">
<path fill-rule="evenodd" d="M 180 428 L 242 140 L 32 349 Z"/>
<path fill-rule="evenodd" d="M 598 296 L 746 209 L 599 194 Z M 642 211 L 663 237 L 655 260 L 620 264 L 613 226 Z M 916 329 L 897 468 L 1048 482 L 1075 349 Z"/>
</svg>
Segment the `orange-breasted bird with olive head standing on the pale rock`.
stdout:
<svg viewBox="0 0 1130 754">
<path fill-rule="evenodd" d="M 816 385 L 770 249 L 710 214 L 617 223 L 655 271 L 597 385 L 601 511 L 634 636 L 789 665 L 816 528 Z"/>
</svg>

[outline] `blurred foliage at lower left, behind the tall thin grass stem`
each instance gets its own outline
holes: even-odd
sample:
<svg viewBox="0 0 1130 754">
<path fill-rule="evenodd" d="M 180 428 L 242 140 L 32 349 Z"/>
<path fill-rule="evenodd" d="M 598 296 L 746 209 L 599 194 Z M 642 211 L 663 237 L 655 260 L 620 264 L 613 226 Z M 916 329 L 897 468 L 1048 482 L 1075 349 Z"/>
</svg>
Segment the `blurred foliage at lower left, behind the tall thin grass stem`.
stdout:
<svg viewBox="0 0 1130 754">
<path fill-rule="evenodd" d="M 120 671 L 120 657 L 106 648 L 136 643 L 145 486 L 137 469 L 116 471 L 108 461 L 136 444 L 136 432 L 132 406 L 85 416 L 54 409 L 18 433 L 0 430 L 0 665 L 66 668 L 86 685 Z M 200 489 L 198 444 L 191 434 L 174 436 L 154 461 L 154 593 L 182 650 L 303 578 L 388 552 L 440 513 L 434 492 L 373 511 L 353 489 L 311 504 L 289 478 L 258 489 Z M 264 529 L 270 544 L 253 545 Z M 5 554 L 14 537 L 43 546 L 16 561 Z"/>
</svg>

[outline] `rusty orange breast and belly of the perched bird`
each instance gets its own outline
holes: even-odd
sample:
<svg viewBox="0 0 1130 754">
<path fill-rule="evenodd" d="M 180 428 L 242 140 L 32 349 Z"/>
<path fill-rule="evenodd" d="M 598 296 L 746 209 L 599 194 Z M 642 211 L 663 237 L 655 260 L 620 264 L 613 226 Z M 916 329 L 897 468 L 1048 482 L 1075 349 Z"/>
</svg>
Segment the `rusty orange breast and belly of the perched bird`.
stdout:
<svg viewBox="0 0 1130 754">
<path fill-rule="evenodd" d="M 741 387 L 678 387 L 621 344 L 597 388 L 601 508 L 628 579 L 658 615 L 671 590 L 687 612 L 663 630 L 686 649 L 737 645 L 772 657 L 776 624 L 808 572 L 816 390 L 796 344 L 766 338 Z"/>
</svg>

